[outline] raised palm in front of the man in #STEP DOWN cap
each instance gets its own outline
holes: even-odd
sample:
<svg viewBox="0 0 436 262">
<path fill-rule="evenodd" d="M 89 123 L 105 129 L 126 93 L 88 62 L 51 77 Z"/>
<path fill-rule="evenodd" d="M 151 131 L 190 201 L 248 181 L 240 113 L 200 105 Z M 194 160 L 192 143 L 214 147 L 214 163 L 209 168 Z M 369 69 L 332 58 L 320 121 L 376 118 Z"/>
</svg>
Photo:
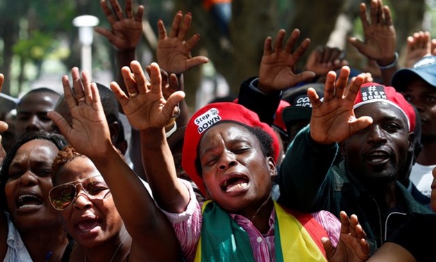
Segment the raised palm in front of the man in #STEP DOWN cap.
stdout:
<svg viewBox="0 0 436 262">
<path fill-rule="evenodd" d="M 335 71 L 327 74 L 324 87 L 324 101 L 320 101 L 313 88 L 308 89 L 312 103 L 310 118 L 310 136 L 321 144 L 341 142 L 355 132 L 371 125 L 369 116 L 355 118 L 353 104 L 360 85 L 365 81 L 365 75 L 356 76 L 347 86 L 350 68 L 342 67 L 336 80 Z"/>
</svg>

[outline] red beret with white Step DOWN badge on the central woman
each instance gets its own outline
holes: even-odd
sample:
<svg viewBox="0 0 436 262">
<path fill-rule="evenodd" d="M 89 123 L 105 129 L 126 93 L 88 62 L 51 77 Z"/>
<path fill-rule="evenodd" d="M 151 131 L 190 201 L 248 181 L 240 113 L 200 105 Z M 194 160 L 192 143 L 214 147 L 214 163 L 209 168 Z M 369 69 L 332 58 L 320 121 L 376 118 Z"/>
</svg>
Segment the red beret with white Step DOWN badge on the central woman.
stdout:
<svg viewBox="0 0 436 262">
<path fill-rule="evenodd" d="M 260 127 L 265 130 L 273 138 L 274 160 L 277 161 L 278 159 L 280 147 L 276 133 L 269 125 L 260 122 L 258 114 L 237 103 L 221 102 L 206 105 L 195 112 L 187 123 L 182 152 L 183 170 L 191 177 L 192 181 L 194 181 L 204 195 L 206 195 L 206 187 L 204 186 L 201 174 L 197 173 L 195 167 L 199 143 L 206 130 L 216 123 L 226 120 L 252 127 Z"/>
</svg>

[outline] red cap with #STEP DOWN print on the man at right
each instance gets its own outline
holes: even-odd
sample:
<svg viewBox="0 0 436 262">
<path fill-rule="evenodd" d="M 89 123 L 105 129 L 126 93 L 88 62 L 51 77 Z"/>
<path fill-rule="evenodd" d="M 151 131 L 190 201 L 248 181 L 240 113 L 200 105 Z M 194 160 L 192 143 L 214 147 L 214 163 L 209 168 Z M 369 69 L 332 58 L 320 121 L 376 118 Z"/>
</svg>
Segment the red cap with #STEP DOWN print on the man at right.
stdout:
<svg viewBox="0 0 436 262">
<path fill-rule="evenodd" d="M 409 132 L 414 130 L 415 112 L 405 100 L 404 96 L 395 91 L 394 87 L 386 87 L 375 82 L 368 82 L 360 86 L 359 94 L 354 101 L 354 109 L 368 103 L 385 102 L 398 108 L 405 116 L 409 125 Z"/>
</svg>

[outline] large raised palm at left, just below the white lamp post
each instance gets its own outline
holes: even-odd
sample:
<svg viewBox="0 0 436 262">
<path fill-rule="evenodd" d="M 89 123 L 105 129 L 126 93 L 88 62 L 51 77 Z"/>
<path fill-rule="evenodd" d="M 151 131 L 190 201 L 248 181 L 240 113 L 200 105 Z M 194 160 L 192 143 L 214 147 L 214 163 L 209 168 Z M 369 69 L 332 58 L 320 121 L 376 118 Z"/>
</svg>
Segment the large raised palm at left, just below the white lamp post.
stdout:
<svg viewBox="0 0 436 262">
<path fill-rule="evenodd" d="M 48 116 L 78 152 L 90 158 L 104 157 L 112 143 L 99 90 L 86 71 L 80 75 L 78 68 L 73 67 L 71 73 L 73 87 L 69 84 L 68 76 L 62 77 L 62 85 L 72 124 L 58 112 L 51 111 Z"/>
</svg>

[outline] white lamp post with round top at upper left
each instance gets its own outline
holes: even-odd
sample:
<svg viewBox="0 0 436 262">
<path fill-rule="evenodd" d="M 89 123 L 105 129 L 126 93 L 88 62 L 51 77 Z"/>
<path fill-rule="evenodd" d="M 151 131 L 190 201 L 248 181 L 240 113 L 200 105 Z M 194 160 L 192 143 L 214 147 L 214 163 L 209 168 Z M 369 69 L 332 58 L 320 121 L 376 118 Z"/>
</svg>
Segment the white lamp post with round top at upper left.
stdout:
<svg viewBox="0 0 436 262">
<path fill-rule="evenodd" d="M 73 25 L 78 27 L 78 40 L 82 45 L 82 71 L 90 74 L 92 79 L 92 37 L 93 27 L 99 24 L 99 19 L 93 15 L 81 15 L 73 19 Z"/>
</svg>

